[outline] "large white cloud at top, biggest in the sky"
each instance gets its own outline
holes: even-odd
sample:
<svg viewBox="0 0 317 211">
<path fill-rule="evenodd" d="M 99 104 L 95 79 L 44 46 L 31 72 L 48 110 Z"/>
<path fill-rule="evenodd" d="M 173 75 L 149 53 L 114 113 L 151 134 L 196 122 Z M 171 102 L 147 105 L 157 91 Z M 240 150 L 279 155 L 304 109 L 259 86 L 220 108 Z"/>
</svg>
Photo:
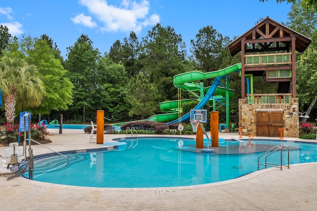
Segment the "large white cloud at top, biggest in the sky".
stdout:
<svg viewBox="0 0 317 211">
<path fill-rule="evenodd" d="M 122 0 L 120 7 L 108 5 L 106 0 L 79 0 L 79 2 L 88 8 L 93 17 L 103 23 L 102 31 L 140 32 L 144 27 L 159 22 L 159 15 L 153 14 L 149 17 L 150 3 L 147 0 L 141 0 L 140 3 Z"/>
</svg>

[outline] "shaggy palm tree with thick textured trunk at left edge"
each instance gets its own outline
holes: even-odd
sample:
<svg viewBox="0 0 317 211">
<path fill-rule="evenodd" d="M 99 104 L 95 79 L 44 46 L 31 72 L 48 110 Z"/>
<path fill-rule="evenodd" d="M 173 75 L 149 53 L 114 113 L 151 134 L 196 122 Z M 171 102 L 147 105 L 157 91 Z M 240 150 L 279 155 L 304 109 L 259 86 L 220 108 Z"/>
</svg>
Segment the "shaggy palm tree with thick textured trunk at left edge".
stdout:
<svg viewBox="0 0 317 211">
<path fill-rule="evenodd" d="M 4 99 L 7 124 L 14 125 L 15 108 L 22 110 L 41 104 L 45 96 L 44 84 L 34 65 L 21 58 L 0 59 L 0 89 Z"/>
</svg>

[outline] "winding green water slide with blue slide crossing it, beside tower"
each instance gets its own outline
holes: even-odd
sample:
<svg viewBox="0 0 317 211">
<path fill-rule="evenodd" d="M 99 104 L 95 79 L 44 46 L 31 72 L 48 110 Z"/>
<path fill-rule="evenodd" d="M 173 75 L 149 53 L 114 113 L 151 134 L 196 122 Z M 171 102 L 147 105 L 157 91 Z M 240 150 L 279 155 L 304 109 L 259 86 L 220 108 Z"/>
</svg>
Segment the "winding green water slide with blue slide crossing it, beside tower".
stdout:
<svg viewBox="0 0 317 211">
<path fill-rule="evenodd" d="M 182 90 L 185 91 L 201 91 L 201 87 L 197 85 L 197 83 L 194 83 L 195 81 L 201 81 L 205 79 L 212 79 L 212 78 L 218 78 L 218 77 L 224 77 L 227 74 L 239 71 L 241 69 L 241 63 L 232 65 L 228 68 L 210 72 L 210 73 L 202 73 L 198 71 L 193 72 L 187 72 L 182 73 L 174 76 L 173 78 L 173 84 L 175 87 L 180 87 Z M 181 103 L 185 102 L 192 102 L 192 101 L 199 101 L 198 105 L 195 107 L 195 109 L 203 108 L 204 105 L 211 99 L 221 99 L 226 97 L 226 90 L 222 86 L 218 86 L 220 83 L 220 79 L 215 80 L 210 87 L 203 87 L 203 92 L 206 93 L 206 95 L 202 99 L 182 99 Z M 234 96 L 234 90 L 229 90 L 229 98 L 232 98 Z M 154 122 L 163 122 L 163 123 L 178 123 L 178 100 L 174 101 L 166 101 L 161 102 L 159 104 L 159 108 L 162 112 L 166 112 L 166 114 L 158 114 L 151 116 L 150 118 L 146 120 L 138 120 L 138 121 L 131 121 L 131 122 L 140 122 L 140 121 L 154 121 Z M 182 117 L 182 122 L 189 119 L 189 114 L 186 114 Z M 113 124 L 113 126 L 122 126 L 126 123 L 131 122 L 125 122 L 125 123 L 117 123 Z"/>
</svg>

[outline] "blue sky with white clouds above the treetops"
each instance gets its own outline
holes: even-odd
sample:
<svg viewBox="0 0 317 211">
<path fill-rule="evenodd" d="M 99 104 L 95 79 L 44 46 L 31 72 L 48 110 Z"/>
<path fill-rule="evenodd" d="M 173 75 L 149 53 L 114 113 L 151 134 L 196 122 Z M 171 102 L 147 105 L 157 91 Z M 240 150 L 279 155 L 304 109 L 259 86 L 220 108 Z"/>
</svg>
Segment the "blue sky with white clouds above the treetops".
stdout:
<svg viewBox="0 0 317 211">
<path fill-rule="evenodd" d="M 276 0 L 1 0 L 0 24 L 18 38 L 47 34 L 64 57 L 81 34 L 104 53 L 131 31 L 141 41 L 158 22 L 181 34 L 189 50 L 190 40 L 205 26 L 233 40 L 260 18 L 286 22 L 290 7 Z"/>
</svg>

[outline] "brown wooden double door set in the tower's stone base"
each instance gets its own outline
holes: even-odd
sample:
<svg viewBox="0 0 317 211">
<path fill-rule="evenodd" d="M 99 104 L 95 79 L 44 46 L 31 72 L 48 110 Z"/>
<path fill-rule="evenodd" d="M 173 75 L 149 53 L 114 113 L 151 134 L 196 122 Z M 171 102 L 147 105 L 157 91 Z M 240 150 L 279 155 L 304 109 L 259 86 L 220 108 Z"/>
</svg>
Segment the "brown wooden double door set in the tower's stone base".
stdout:
<svg viewBox="0 0 317 211">
<path fill-rule="evenodd" d="M 282 111 L 257 111 L 257 136 L 279 137 L 283 126 Z"/>
</svg>

